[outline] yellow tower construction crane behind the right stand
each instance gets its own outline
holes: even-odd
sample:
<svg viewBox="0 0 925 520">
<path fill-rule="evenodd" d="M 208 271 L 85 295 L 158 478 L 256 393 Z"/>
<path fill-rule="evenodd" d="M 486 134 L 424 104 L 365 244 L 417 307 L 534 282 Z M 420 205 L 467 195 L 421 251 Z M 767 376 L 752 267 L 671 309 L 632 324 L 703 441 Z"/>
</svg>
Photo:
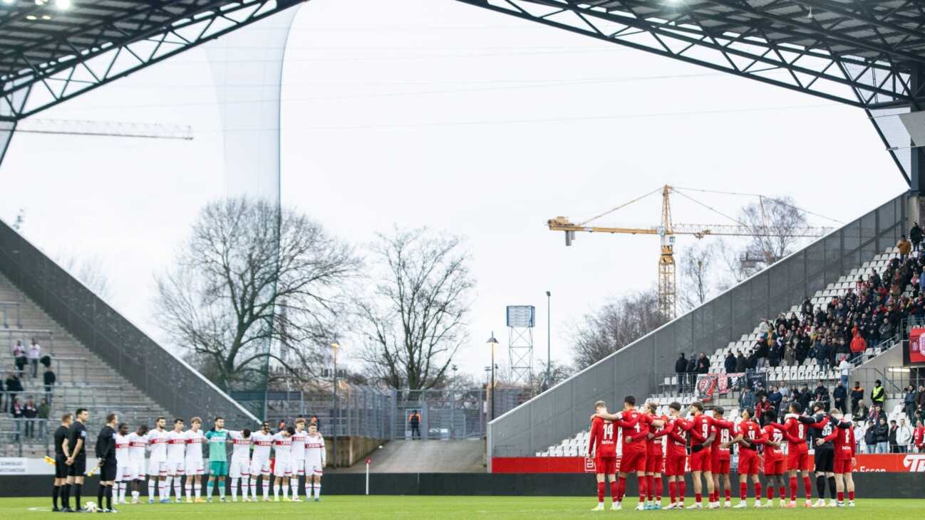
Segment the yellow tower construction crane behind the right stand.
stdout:
<svg viewBox="0 0 925 520">
<path fill-rule="evenodd" d="M 619 210 L 637 200 L 644 199 L 649 195 L 661 191 L 661 224 L 653 227 L 601 227 L 601 226 L 589 226 L 587 225 L 593 220 Z M 706 190 L 701 190 L 706 191 Z M 576 231 L 582 231 L 586 233 L 613 233 L 613 234 L 623 234 L 623 235 L 658 235 L 660 237 L 660 254 L 659 254 L 659 308 L 660 311 L 666 316 L 669 320 L 673 320 L 677 316 L 677 289 L 676 289 L 676 275 L 674 269 L 674 236 L 675 235 L 691 235 L 696 236 L 697 238 L 703 238 L 704 236 L 824 236 L 832 228 L 830 227 L 788 227 L 786 229 L 763 225 L 760 228 L 755 228 L 753 226 L 748 226 L 744 224 L 673 224 L 672 223 L 672 204 L 669 198 L 669 195 L 672 193 L 678 193 L 676 188 L 665 185 L 643 195 L 634 200 L 630 200 L 625 204 L 621 204 L 616 208 L 608 212 L 599 214 L 596 217 L 592 217 L 581 224 L 573 224 L 569 221 L 567 217 L 556 217 L 549 219 L 547 224 L 549 225 L 549 231 L 563 231 L 565 232 L 565 245 L 571 246 L 572 241 L 575 237 Z M 722 193 L 722 192 L 719 192 Z M 741 193 L 730 193 L 732 195 L 748 195 Z M 688 199 L 690 197 L 685 196 L 682 193 L 679 193 Z M 693 199 L 691 199 L 693 200 Z M 697 200 L 695 200 L 697 202 Z M 704 205 L 700 202 L 698 204 Z M 759 203 L 762 206 L 763 210 L 763 200 L 759 196 Z M 711 211 L 712 208 L 704 205 Z M 720 213 L 722 214 L 722 213 Z M 723 215 L 725 216 L 725 215 Z M 730 218 L 730 217 L 727 217 Z M 733 219 L 734 220 L 734 219 Z M 768 257 L 767 260 L 771 261 L 769 253 L 766 251 L 765 256 Z"/>
</svg>

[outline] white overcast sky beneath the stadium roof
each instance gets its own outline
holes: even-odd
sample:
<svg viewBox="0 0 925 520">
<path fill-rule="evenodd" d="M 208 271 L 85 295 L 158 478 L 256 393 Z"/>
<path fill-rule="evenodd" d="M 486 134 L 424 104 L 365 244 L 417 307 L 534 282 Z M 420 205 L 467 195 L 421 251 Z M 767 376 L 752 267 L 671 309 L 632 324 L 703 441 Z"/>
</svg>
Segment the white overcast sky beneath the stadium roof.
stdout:
<svg viewBox="0 0 925 520">
<path fill-rule="evenodd" d="M 668 183 L 792 195 L 847 222 L 906 188 L 859 109 L 449 0 L 313 0 L 284 71 L 284 203 L 356 244 L 393 223 L 467 237 L 478 291 L 458 362 L 476 375 L 488 334 L 507 340 L 506 305 L 536 305 L 545 358 L 551 291 L 552 356 L 567 360 L 574 320 L 655 283 L 657 237 L 565 248 L 549 217 L 577 221 Z M 153 273 L 203 203 L 236 190 L 204 52 L 41 117 L 193 127 L 192 141 L 19 134 L 0 169 L 0 218 L 25 208 L 33 243 L 99 259 L 112 304 L 160 338 Z M 749 201 L 700 199 L 727 213 Z M 672 203 L 675 222 L 724 224 Z M 659 219 L 654 197 L 603 223 Z"/>
</svg>

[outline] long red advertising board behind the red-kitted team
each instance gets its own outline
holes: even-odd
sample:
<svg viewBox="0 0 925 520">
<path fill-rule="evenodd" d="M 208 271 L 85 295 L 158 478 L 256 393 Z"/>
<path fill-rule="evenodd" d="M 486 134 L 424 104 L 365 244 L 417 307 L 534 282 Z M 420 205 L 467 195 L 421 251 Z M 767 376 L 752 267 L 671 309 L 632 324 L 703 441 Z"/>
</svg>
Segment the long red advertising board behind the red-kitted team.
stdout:
<svg viewBox="0 0 925 520">
<path fill-rule="evenodd" d="M 925 453 L 858 453 L 856 459 L 859 473 L 925 473 Z M 492 457 L 491 472 L 594 473 L 594 466 L 589 469 L 585 457 Z"/>
</svg>

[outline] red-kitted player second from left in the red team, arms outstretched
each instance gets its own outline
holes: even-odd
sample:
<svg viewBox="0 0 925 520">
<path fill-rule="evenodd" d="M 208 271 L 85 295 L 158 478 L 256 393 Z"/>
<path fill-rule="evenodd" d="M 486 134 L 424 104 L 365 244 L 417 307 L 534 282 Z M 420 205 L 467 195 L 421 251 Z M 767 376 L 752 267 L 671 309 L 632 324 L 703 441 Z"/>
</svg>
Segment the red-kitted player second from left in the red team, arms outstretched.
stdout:
<svg viewBox="0 0 925 520">
<path fill-rule="evenodd" d="M 596 414 L 607 420 L 623 421 L 621 426 L 623 434 L 623 457 L 620 460 L 620 475 L 617 481 L 617 503 L 611 509 L 620 510 L 623 507 L 623 495 L 626 492 L 626 476 L 635 473 L 639 481 L 639 505 L 637 510 L 644 510 L 643 502 L 646 500 L 646 439 L 648 438 L 648 425 L 661 426 L 661 421 L 651 416 L 639 413 L 635 409 L 635 397 L 627 395 L 623 398 L 623 412 L 617 415 Z M 635 437 L 634 437 L 635 436 Z"/>
</svg>

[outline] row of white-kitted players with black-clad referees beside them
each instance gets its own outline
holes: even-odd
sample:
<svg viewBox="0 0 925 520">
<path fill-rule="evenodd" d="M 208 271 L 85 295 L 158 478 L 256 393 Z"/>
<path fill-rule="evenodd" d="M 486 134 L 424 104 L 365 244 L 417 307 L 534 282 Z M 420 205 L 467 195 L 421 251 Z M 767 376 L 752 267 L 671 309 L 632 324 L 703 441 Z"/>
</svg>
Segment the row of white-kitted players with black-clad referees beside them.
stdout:
<svg viewBox="0 0 925 520">
<path fill-rule="evenodd" d="M 80 486 L 86 470 L 85 450 L 81 451 L 86 439 L 86 410 L 78 410 L 76 420 L 66 414 L 61 427 L 56 431 L 56 496 L 62 487 L 62 510 L 68 511 L 68 494 L 76 489 L 76 501 L 80 508 Z M 257 501 L 257 481 L 262 479 L 263 501 L 270 501 L 272 484 L 276 501 L 301 502 L 299 479 L 305 477 L 307 499 L 321 500 L 321 476 L 327 464 L 325 440 L 314 424 L 308 425 L 303 418 L 295 426 L 271 433 L 269 423 L 264 422 L 260 431 L 250 429 L 225 429 L 225 420 L 216 417 L 215 426 L 203 431 L 200 417 L 190 419 L 186 429 L 183 419 L 176 418 L 172 429 L 166 429 L 166 418 L 157 417 L 154 429 L 147 425 L 129 432 L 125 423 L 118 424 L 116 414 L 106 417 L 106 425 L 100 431 L 96 442 L 96 456 L 100 469 L 100 505 L 105 496 L 104 511 L 115 512 L 112 502 L 126 502 L 126 493 L 131 487 L 131 503 L 139 503 L 142 483 L 147 479 L 148 503 L 170 503 L 171 489 L 176 502 L 212 502 L 212 494 L 218 489 L 221 502 L 226 502 L 225 477 L 230 478 L 231 502 Z M 228 463 L 226 445 L 231 444 L 231 459 Z M 208 480 L 206 498 L 203 499 L 203 475 L 206 473 L 206 459 L 203 445 L 208 447 Z M 271 458 L 271 450 L 273 457 Z M 147 458 L 146 458 L 147 455 Z M 95 471 L 95 470 L 93 470 Z M 93 474 L 91 472 L 91 475 Z M 172 486 L 171 486 L 172 485 Z M 291 498 L 289 491 L 291 490 Z M 280 492 L 281 491 L 281 492 Z M 115 501 L 112 500 L 115 495 Z M 159 499 L 158 499 L 159 497 Z"/>
</svg>

